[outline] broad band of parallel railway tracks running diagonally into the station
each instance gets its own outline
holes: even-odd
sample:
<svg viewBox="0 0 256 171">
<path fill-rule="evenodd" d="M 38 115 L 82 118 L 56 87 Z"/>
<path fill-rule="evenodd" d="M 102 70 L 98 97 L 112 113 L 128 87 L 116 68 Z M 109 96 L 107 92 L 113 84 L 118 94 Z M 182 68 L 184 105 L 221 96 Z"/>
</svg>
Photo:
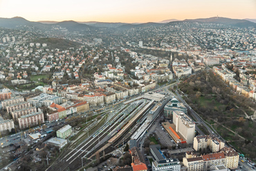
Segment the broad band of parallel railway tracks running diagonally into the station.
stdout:
<svg viewBox="0 0 256 171">
<path fill-rule="evenodd" d="M 84 140 L 80 145 L 77 145 L 76 148 L 68 148 L 68 150 L 62 154 L 62 159 L 53 163 L 53 165 L 51 165 L 51 167 L 49 167 L 47 170 L 55 170 L 55 168 L 60 170 L 77 170 L 78 168 L 81 168 L 81 158 L 86 158 L 86 163 L 91 161 L 89 158 L 97 150 L 100 150 L 100 148 L 106 145 L 108 139 L 111 139 L 111 137 L 115 136 L 114 133 L 116 128 L 118 128 L 121 123 L 127 122 L 126 119 L 129 119 L 129 117 L 132 118 L 131 114 L 133 114 L 133 112 L 136 114 L 138 107 L 145 105 L 147 105 L 145 101 L 138 101 L 137 103 L 129 103 L 125 105 L 125 108 L 122 108 L 119 112 L 117 112 L 89 139 Z M 123 126 L 121 125 L 120 127 Z M 104 151 L 111 152 L 113 149 L 113 146 L 111 147 L 109 145 L 109 148 L 106 148 Z"/>
</svg>

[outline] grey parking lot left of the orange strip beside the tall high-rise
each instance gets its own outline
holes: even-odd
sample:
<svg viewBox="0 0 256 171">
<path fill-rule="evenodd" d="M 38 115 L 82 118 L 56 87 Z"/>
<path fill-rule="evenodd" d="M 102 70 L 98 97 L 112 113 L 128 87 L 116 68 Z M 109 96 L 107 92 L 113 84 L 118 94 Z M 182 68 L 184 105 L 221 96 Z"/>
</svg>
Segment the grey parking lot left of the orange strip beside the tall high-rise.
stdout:
<svg viewBox="0 0 256 171">
<path fill-rule="evenodd" d="M 173 139 L 170 137 L 170 135 L 165 131 L 163 126 L 158 123 L 158 127 L 156 127 L 156 134 L 158 135 L 158 138 L 161 141 L 161 144 L 166 144 L 167 147 L 176 145 L 176 143 L 173 141 Z"/>
</svg>

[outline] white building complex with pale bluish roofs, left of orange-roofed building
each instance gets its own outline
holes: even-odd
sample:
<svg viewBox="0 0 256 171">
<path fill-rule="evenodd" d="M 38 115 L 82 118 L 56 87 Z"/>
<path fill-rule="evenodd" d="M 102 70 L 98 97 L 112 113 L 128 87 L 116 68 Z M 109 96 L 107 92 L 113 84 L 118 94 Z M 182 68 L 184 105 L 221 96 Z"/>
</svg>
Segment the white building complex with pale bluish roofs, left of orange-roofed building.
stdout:
<svg viewBox="0 0 256 171">
<path fill-rule="evenodd" d="M 28 99 L 28 103 L 32 104 L 36 108 L 51 105 L 51 103 L 61 104 L 62 97 L 57 97 L 55 95 L 42 93 L 37 97 Z"/>
</svg>

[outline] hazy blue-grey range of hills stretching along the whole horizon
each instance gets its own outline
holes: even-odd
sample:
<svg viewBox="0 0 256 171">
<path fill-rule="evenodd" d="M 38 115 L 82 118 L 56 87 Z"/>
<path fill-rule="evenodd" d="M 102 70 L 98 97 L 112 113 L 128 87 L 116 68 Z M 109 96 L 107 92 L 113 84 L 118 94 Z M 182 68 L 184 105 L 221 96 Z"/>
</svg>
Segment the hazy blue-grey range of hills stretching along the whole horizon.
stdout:
<svg viewBox="0 0 256 171">
<path fill-rule="evenodd" d="M 229 19 L 225 17 L 211 17 L 205 19 L 185 19 L 179 21 L 176 19 L 163 20 L 158 23 L 148 22 L 148 23 L 107 23 L 107 22 L 98 22 L 98 21 L 88 21 L 88 22 L 77 22 L 77 21 L 28 21 L 22 17 L 13 17 L 13 18 L 0 18 L 0 28 L 17 28 L 19 26 L 34 26 L 35 28 L 51 28 L 52 26 L 60 26 L 66 28 L 70 31 L 79 31 L 85 30 L 88 28 L 120 28 L 120 29 L 129 29 L 129 28 L 144 28 L 149 26 L 168 26 L 173 23 L 179 22 L 201 22 L 201 23 L 220 23 L 227 26 L 235 26 L 239 28 L 255 27 L 255 19 Z"/>
</svg>

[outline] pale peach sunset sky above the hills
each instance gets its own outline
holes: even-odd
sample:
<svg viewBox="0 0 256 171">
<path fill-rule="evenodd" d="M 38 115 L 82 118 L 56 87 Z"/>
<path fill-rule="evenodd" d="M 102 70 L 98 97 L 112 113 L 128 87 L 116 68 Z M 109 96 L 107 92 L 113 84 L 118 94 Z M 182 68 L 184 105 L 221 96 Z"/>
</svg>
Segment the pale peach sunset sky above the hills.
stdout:
<svg viewBox="0 0 256 171">
<path fill-rule="evenodd" d="M 143 23 L 208 17 L 256 19 L 256 0 L 0 0 L 0 17 Z"/>
</svg>

